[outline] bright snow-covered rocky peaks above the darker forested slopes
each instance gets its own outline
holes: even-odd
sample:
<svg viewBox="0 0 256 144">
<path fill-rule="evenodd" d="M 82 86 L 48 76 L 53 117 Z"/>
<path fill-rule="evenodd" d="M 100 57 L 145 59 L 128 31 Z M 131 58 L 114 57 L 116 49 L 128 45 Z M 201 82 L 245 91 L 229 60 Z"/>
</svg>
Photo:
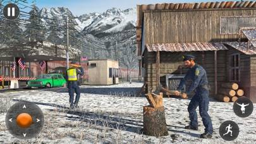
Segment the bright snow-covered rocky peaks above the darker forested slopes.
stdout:
<svg viewBox="0 0 256 144">
<path fill-rule="evenodd" d="M 78 18 L 80 27 L 85 32 L 111 33 L 130 30 L 136 26 L 136 9 L 108 9 L 105 13 L 92 13 L 90 15 L 82 15 Z"/>
</svg>

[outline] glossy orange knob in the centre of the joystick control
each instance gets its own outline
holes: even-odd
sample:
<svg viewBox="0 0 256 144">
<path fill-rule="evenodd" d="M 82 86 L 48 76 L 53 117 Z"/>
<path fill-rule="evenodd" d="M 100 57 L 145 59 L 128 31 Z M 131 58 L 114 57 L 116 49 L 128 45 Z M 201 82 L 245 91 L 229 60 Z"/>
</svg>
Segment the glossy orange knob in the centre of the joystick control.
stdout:
<svg viewBox="0 0 256 144">
<path fill-rule="evenodd" d="M 27 113 L 19 114 L 16 118 L 16 123 L 21 128 L 28 128 L 32 124 L 32 117 Z"/>
</svg>

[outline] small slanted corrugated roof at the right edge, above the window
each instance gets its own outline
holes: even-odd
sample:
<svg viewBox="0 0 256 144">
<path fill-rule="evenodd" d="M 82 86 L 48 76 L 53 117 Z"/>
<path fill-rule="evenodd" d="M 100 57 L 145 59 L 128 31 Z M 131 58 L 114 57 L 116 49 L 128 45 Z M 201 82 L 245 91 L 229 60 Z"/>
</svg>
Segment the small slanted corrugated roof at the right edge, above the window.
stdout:
<svg viewBox="0 0 256 144">
<path fill-rule="evenodd" d="M 244 54 L 256 54 L 256 47 L 253 47 L 253 45 L 247 47 L 247 42 L 224 42 L 224 44 L 230 45 Z"/>
</svg>

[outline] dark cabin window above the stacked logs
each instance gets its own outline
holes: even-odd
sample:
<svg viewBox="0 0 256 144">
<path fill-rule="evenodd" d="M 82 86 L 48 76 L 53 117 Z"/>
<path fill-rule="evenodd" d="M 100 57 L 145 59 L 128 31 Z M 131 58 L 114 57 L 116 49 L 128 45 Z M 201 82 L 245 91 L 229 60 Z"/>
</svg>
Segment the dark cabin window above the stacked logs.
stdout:
<svg viewBox="0 0 256 144">
<path fill-rule="evenodd" d="M 240 81 L 240 54 L 229 57 L 229 81 Z"/>
</svg>

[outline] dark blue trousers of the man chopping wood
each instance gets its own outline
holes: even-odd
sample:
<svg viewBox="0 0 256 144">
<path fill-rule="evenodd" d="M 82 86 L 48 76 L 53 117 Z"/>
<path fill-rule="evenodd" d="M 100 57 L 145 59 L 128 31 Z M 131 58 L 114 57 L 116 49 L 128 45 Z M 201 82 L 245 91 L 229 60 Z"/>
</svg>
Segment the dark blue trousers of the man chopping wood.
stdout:
<svg viewBox="0 0 256 144">
<path fill-rule="evenodd" d="M 212 121 L 208 114 L 209 108 L 209 91 L 208 90 L 200 90 L 200 92 L 196 92 L 193 96 L 190 104 L 188 105 L 188 112 L 190 115 L 190 126 L 197 127 L 197 107 L 199 106 L 199 113 L 202 117 L 202 121 L 204 123 L 205 132 L 212 134 Z"/>
</svg>

